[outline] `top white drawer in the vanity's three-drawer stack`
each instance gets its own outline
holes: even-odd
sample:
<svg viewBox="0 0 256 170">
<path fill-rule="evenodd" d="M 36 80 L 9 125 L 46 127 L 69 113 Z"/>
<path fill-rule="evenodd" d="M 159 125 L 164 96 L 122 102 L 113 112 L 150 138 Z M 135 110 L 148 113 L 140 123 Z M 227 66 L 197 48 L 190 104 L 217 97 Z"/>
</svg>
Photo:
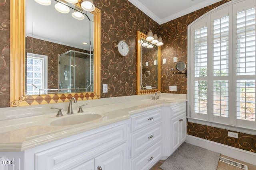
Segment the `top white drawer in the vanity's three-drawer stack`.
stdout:
<svg viewBox="0 0 256 170">
<path fill-rule="evenodd" d="M 147 111 L 131 118 L 131 130 L 134 132 L 160 120 L 162 120 L 162 109 Z"/>
</svg>

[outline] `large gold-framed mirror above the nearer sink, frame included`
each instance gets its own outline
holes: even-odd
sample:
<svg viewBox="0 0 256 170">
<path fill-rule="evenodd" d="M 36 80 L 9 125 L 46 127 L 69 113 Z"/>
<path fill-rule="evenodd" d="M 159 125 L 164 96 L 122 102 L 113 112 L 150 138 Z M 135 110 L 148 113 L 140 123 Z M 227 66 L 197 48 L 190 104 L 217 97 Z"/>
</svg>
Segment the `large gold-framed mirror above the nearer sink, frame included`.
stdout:
<svg viewBox="0 0 256 170">
<path fill-rule="evenodd" d="M 31 44 L 33 43 L 34 47 L 36 47 L 37 49 L 40 49 L 42 48 L 42 42 L 49 43 L 48 39 L 51 39 L 57 33 L 52 31 L 51 32 L 52 35 L 48 35 L 48 37 L 41 36 L 36 34 L 36 31 L 35 31 L 36 29 L 33 28 L 32 33 L 34 33 L 37 37 L 44 37 L 45 39 L 39 39 L 39 38 L 37 39 L 37 37 L 30 36 L 30 31 L 28 30 L 29 25 L 32 25 L 32 23 L 29 22 L 30 19 L 28 17 L 30 10 L 25 9 L 29 1 L 31 1 L 32 3 L 36 3 L 34 2 L 34 0 L 11 0 L 10 106 L 16 107 L 16 106 L 30 106 L 30 105 L 38 105 L 38 104 L 68 102 L 68 99 L 72 97 L 75 97 L 76 100 L 78 101 L 100 98 L 100 10 L 96 8 L 93 12 L 83 11 L 80 6 L 81 0 L 78 0 L 77 4 L 66 3 L 67 7 L 70 9 L 69 10 L 70 16 L 72 12 L 78 11 L 78 12 L 81 12 L 81 14 L 83 14 L 83 16 L 85 16 L 87 20 L 89 20 L 89 26 L 88 26 L 89 28 L 87 30 L 90 34 L 88 35 L 90 39 L 87 42 L 88 45 L 86 45 L 85 47 L 85 46 L 79 45 L 76 42 L 78 41 L 78 38 L 75 37 L 74 35 L 72 35 L 74 38 L 72 38 L 72 36 L 68 38 L 68 35 L 70 35 L 70 32 L 69 32 L 69 33 L 66 33 L 67 36 L 65 36 L 65 38 L 72 40 L 72 43 L 70 43 L 71 45 L 69 45 L 69 42 L 62 42 L 62 41 L 65 41 L 65 39 L 62 39 L 62 40 L 54 39 L 54 41 L 50 41 L 51 43 L 50 48 L 57 48 L 56 46 L 58 45 L 62 46 L 60 49 L 56 50 L 58 52 L 55 54 L 56 58 L 54 60 L 51 59 L 50 61 L 48 60 L 48 62 L 46 60 L 46 63 L 48 63 L 47 64 L 48 66 L 49 66 L 49 63 L 52 64 L 53 61 L 56 61 L 56 63 L 52 65 L 56 65 L 58 66 L 58 68 L 57 67 L 53 68 L 53 66 L 50 66 L 50 68 L 46 70 L 49 71 L 50 69 L 52 70 L 55 69 L 54 70 L 55 73 L 49 74 L 49 72 L 48 73 L 46 72 L 44 74 L 42 72 L 41 77 L 47 77 L 45 75 L 48 74 L 48 79 L 46 81 L 49 82 L 50 78 L 52 80 L 55 79 L 58 81 L 45 83 L 45 81 L 42 80 L 42 82 L 44 82 L 45 86 L 47 87 L 47 88 L 42 88 L 41 86 L 35 85 L 34 80 L 33 82 L 29 82 L 30 80 L 28 78 L 30 77 L 30 75 L 28 74 L 29 73 L 28 67 L 29 66 L 31 67 L 31 65 L 28 64 L 28 60 L 29 60 L 28 55 L 31 55 L 32 58 L 34 57 L 33 59 L 37 59 L 38 55 L 40 55 L 39 57 L 43 56 L 46 59 L 47 57 L 49 58 L 49 56 L 45 55 L 45 53 L 42 53 L 42 55 L 35 53 L 33 55 L 32 54 L 33 51 L 36 51 L 36 50 L 34 49 L 31 50 L 32 49 Z M 58 4 L 58 2 L 63 3 L 65 1 L 52 0 L 53 9 L 54 9 L 54 4 Z M 39 9 L 40 10 L 42 9 L 42 10 L 45 10 L 45 12 L 48 12 L 46 10 L 46 6 L 42 6 L 40 8 L 36 8 L 33 6 L 33 9 L 34 11 L 38 11 Z M 60 15 L 63 15 L 65 17 L 64 20 L 70 21 L 70 19 L 67 19 L 67 17 L 70 17 L 68 16 L 68 14 L 60 13 Z M 33 16 L 35 18 L 36 14 L 34 14 Z M 37 16 L 42 16 L 42 15 L 38 14 Z M 71 18 L 72 17 L 74 19 L 73 15 L 71 16 Z M 76 20 L 76 18 L 74 20 Z M 34 19 L 34 21 L 42 22 L 42 20 L 41 19 L 38 20 L 38 18 Z M 60 19 L 56 20 L 56 22 L 57 21 L 60 21 Z M 42 27 L 40 26 L 39 22 L 36 23 L 36 26 Z M 60 22 L 63 22 L 63 21 L 60 21 Z M 84 22 L 84 20 L 82 22 Z M 68 24 L 69 23 L 66 23 L 66 25 Z M 72 23 L 70 24 L 72 25 Z M 46 25 L 46 22 L 44 22 L 43 25 Z M 57 24 L 54 24 L 54 25 L 57 25 Z M 83 28 L 77 27 L 79 24 L 74 24 L 74 25 L 76 29 L 84 30 Z M 51 30 L 51 28 L 52 27 L 49 27 L 49 30 Z M 64 29 L 59 28 L 58 32 L 61 32 L 63 30 Z M 44 32 L 44 29 L 39 30 L 38 32 L 40 33 Z M 30 39 L 33 39 L 33 40 L 30 41 Z M 74 39 L 76 41 L 73 41 Z M 86 37 L 84 37 L 84 39 L 86 39 Z M 36 41 L 36 43 L 34 41 Z M 61 42 L 61 43 L 58 43 L 58 42 Z M 79 43 L 81 44 L 81 42 Z M 37 50 L 37 51 L 40 51 L 40 50 Z M 76 55 L 76 63 L 72 61 L 75 58 L 74 55 Z M 61 67 L 59 68 L 59 64 L 62 63 L 62 61 L 60 60 L 61 59 L 60 56 L 63 56 L 63 57 L 68 56 L 67 59 L 68 61 L 70 61 L 68 68 L 64 68 L 64 66 L 62 66 L 63 68 Z M 78 66 L 77 63 L 87 63 L 87 65 L 84 64 L 82 66 L 81 65 Z M 89 69 L 86 72 L 84 68 L 87 68 L 88 66 L 89 66 Z M 38 67 L 36 67 L 36 69 L 38 69 Z M 39 69 L 42 70 L 42 68 L 39 68 Z M 83 70 L 83 72 L 86 72 L 87 77 L 82 71 L 78 72 L 78 70 L 81 70 L 81 69 Z M 69 74 L 72 74 L 72 76 L 70 76 Z M 49 75 L 50 75 L 50 78 L 49 78 Z M 52 75 L 55 75 L 55 76 L 52 76 Z M 78 75 L 77 78 L 73 78 L 76 75 Z M 61 78 L 63 77 L 63 79 L 61 80 L 60 77 Z M 82 81 L 83 84 L 77 85 L 78 80 L 80 80 L 81 77 L 83 78 L 85 77 L 84 80 Z M 59 81 L 59 79 L 61 81 Z M 75 80 L 77 83 L 76 86 L 74 85 Z M 64 81 L 69 82 L 70 83 L 69 86 L 66 84 L 63 84 Z M 84 85 L 85 81 L 87 81 L 86 85 Z M 63 87 L 64 85 L 65 87 Z M 30 90 L 31 87 L 34 89 L 36 88 L 36 90 L 37 89 L 40 89 L 40 90 L 32 92 Z"/>
</svg>

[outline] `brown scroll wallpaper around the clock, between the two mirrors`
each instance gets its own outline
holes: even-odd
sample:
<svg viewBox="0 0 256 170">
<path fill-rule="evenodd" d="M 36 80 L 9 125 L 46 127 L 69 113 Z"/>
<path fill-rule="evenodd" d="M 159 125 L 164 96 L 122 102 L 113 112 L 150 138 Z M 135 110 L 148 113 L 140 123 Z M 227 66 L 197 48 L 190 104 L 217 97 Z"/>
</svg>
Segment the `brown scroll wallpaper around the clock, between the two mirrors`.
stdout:
<svg viewBox="0 0 256 170">
<path fill-rule="evenodd" d="M 108 93 L 101 97 L 136 95 L 136 31 L 156 32 L 160 25 L 128 0 L 94 0 L 94 4 L 101 10 L 101 84 L 108 84 Z M 120 40 L 130 47 L 126 57 L 116 50 Z"/>
</svg>

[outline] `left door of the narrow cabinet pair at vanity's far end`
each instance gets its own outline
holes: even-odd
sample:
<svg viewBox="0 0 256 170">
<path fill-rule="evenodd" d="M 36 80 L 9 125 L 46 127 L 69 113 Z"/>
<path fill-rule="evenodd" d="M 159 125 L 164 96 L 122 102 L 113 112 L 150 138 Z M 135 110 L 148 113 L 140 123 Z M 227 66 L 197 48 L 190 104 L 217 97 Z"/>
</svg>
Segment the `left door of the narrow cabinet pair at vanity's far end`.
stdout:
<svg viewBox="0 0 256 170">
<path fill-rule="evenodd" d="M 172 152 L 180 146 L 179 117 L 172 119 Z"/>
</svg>

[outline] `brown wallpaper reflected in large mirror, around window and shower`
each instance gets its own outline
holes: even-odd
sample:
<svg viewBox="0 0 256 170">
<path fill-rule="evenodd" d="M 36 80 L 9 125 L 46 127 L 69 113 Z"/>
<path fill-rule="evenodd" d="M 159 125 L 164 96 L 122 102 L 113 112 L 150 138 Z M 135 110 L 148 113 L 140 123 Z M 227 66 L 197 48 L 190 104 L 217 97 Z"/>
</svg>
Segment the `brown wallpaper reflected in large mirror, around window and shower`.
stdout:
<svg viewBox="0 0 256 170">
<path fill-rule="evenodd" d="M 86 50 L 52 43 L 32 37 L 26 38 L 26 52 L 48 56 L 48 89 L 58 88 L 58 55 L 69 50 L 89 53 Z"/>
</svg>

